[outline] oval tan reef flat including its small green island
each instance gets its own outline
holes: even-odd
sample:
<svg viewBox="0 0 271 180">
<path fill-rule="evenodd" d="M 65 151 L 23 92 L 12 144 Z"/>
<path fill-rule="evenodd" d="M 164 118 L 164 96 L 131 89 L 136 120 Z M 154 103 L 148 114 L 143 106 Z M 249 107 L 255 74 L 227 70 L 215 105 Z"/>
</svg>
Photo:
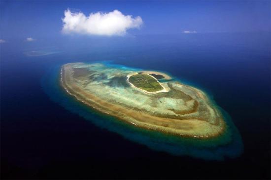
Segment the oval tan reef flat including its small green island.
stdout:
<svg viewBox="0 0 271 180">
<path fill-rule="evenodd" d="M 227 129 L 202 90 L 165 73 L 68 63 L 61 68 L 61 85 L 90 108 L 137 128 L 199 139 L 218 137 Z"/>
</svg>

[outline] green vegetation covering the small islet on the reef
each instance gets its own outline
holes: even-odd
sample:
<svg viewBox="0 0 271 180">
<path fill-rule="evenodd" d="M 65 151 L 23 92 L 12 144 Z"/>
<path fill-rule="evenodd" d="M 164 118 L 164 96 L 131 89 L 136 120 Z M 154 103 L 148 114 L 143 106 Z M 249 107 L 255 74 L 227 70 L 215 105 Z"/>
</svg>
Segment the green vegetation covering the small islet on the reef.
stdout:
<svg viewBox="0 0 271 180">
<path fill-rule="evenodd" d="M 163 89 L 157 79 L 148 74 L 136 74 L 129 78 L 129 82 L 135 87 L 148 92 L 156 92 Z"/>
</svg>

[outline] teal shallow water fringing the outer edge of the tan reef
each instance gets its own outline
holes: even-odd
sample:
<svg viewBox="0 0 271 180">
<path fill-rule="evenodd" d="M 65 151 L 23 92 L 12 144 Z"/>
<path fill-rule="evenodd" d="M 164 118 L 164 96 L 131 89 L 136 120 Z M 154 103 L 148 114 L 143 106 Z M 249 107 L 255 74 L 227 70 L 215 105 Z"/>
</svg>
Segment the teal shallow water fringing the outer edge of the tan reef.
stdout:
<svg viewBox="0 0 271 180">
<path fill-rule="evenodd" d="M 113 64 L 112 61 L 102 61 L 100 63 L 125 70 L 141 70 Z M 97 127 L 121 134 L 124 138 L 143 144 L 152 150 L 163 151 L 177 156 L 189 155 L 208 160 L 223 160 L 225 157 L 235 158 L 243 151 L 242 140 L 237 128 L 233 124 L 229 114 L 220 107 L 218 108 L 225 117 L 228 130 L 227 134 L 225 133 L 225 135 L 216 139 L 199 140 L 180 138 L 160 132 L 138 129 L 114 117 L 102 114 L 68 95 L 60 86 L 60 68 L 61 65 L 51 67 L 42 77 L 41 84 L 43 90 L 52 101 L 59 103 L 72 113 L 84 117 Z M 176 78 L 174 79 L 176 80 Z M 189 85 L 192 84 L 187 81 L 182 82 Z M 215 102 L 213 103 L 215 104 Z M 224 142 L 224 145 L 218 146 L 217 142 Z"/>
</svg>

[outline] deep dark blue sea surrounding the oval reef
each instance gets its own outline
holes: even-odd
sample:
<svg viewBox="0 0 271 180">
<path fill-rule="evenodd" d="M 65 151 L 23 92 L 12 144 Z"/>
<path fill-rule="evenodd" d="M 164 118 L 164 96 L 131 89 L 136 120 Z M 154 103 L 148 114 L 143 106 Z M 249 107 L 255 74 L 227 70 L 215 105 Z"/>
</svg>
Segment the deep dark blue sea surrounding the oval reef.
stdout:
<svg viewBox="0 0 271 180">
<path fill-rule="evenodd" d="M 270 38 L 189 34 L 1 44 L 1 178 L 270 179 Z M 46 51 L 61 52 L 24 53 L 51 44 Z M 153 151 L 95 126 L 44 91 L 51 68 L 99 60 L 169 72 L 205 90 L 232 117 L 243 153 L 206 161 Z"/>
</svg>

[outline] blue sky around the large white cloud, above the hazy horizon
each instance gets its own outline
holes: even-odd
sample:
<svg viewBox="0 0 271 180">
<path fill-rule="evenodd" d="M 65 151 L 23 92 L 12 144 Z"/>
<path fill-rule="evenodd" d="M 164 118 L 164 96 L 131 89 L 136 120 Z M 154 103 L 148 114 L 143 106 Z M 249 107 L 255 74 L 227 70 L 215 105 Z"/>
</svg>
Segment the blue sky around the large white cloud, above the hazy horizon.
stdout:
<svg viewBox="0 0 271 180">
<path fill-rule="evenodd" d="M 270 0 L 151 0 L 151 1 L 3 1 L 0 2 L 0 39 L 57 37 L 64 11 L 85 15 L 119 10 L 140 16 L 143 25 L 129 34 L 178 34 L 184 30 L 206 32 L 271 31 Z"/>
</svg>

